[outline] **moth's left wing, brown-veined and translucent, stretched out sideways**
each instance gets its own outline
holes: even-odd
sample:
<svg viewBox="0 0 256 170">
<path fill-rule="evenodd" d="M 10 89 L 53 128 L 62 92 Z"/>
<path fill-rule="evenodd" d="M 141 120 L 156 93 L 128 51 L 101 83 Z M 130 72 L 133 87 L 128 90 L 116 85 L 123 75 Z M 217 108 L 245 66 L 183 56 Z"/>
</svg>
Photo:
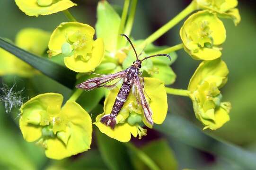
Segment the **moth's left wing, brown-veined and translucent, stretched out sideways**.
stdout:
<svg viewBox="0 0 256 170">
<path fill-rule="evenodd" d="M 117 72 L 115 74 L 109 74 L 106 76 L 91 78 L 91 79 L 86 80 L 83 83 L 76 85 L 76 87 L 84 89 L 84 90 L 92 90 L 94 88 L 102 87 L 102 86 L 108 87 L 109 86 L 108 83 L 111 84 L 111 82 L 114 81 L 115 79 L 123 78 L 125 76 L 125 74 L 126 74 L 126 70 L 123 70 L 123 71 Z M 112 85 L 116 85 L 117 82 L 113 83 Z"/>
</svg>

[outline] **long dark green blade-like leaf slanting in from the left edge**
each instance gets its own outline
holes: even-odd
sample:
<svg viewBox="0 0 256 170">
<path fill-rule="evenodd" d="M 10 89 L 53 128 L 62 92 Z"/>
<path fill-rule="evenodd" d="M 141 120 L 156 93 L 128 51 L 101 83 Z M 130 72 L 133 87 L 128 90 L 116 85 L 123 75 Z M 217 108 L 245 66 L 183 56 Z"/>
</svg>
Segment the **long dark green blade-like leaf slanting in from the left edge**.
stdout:
<svg viewBox="0 0 256 170">
<path fill-rule="evenodd" d="M 61 65 L 53 63 L 49 59 L 38 57 L 35 54 L 22 50 L 21 48 L 0 38 L 0 47 L 9 51 L 19 59 L 22 59 L 32 67 L 41 71 L 44 75 L 49 76 L 53 80 L 73 88 L 75 84 L 76 73 Z"/>
</svg>

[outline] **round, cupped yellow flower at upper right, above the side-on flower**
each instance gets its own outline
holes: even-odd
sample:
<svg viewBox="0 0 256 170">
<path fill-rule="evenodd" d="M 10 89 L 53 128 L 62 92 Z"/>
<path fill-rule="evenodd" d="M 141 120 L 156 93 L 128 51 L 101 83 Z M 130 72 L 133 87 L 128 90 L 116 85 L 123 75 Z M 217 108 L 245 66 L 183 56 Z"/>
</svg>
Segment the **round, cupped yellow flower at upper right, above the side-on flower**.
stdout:
<svg viewBox="0 0 256 170">
<path fill-rule="evenodd" d="M 184 49 L 193 59 L 212 60 L 221 57 L 226 30 L 216 14 L 207 10 L 191 15 L 180 29 Z"/>
</svg>

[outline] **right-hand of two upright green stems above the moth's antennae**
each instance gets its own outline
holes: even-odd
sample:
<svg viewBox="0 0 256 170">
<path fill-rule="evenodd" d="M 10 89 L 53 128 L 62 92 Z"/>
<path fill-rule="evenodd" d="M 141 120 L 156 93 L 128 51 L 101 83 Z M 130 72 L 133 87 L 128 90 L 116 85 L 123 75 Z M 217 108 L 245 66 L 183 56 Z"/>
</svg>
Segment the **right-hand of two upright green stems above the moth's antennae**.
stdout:
<svg viewBox="0 0 256 170">
<path fill-rule="evenodd" d="M 130 14 L 124 29 L 124 34 L 126 34 L 128 37 L 130 36 L 132 31 L 132 25 L 134 21 L 135 12 L 136 12 L 137 2 L 138 0 L 132 0 Z"/>
</svg>

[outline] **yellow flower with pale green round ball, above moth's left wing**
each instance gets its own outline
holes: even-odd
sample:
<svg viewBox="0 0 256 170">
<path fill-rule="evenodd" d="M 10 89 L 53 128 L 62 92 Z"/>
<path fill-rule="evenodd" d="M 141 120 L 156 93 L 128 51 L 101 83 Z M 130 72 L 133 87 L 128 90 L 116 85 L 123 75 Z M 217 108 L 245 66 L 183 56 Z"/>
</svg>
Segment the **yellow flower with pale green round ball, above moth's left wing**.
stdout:
<svg viewBox="0 0 256 170">
<path fill-rule="evenodd" d="M 64 54 L 67 68 L 76 72 L 91 72 L 104 57 L 103 39 L 93 40 L 93 27 L 78 22 L 62 23 L 51 35 L 49 57 Z"/>
</svg>

